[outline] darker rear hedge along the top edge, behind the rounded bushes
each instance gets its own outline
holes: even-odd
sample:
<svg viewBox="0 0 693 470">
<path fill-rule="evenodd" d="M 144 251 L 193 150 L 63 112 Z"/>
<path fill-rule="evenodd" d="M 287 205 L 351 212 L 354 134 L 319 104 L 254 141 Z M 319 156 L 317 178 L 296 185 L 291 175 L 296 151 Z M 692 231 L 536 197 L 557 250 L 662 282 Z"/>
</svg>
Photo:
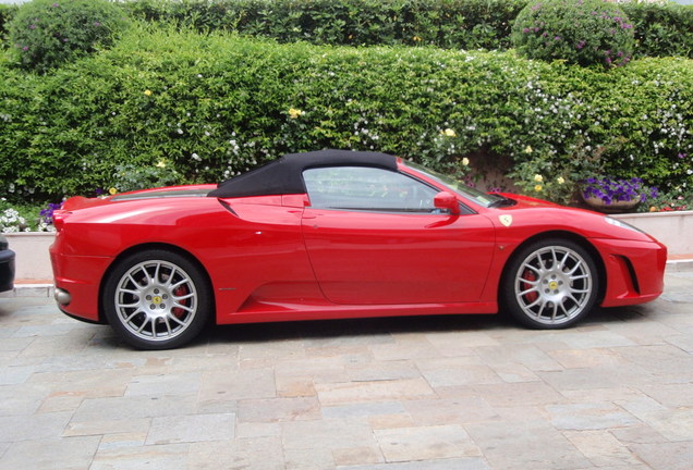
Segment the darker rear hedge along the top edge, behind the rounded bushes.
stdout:
<svg viewBox="0 0 693 470">
<path fill-rule="evenodd" d="M 139 18 L 318 45 L 507 49 L 526 0 L 135 0 Z M 620 3 L 635 57 L 693 58 L 693 7 Z"/>
</svg>

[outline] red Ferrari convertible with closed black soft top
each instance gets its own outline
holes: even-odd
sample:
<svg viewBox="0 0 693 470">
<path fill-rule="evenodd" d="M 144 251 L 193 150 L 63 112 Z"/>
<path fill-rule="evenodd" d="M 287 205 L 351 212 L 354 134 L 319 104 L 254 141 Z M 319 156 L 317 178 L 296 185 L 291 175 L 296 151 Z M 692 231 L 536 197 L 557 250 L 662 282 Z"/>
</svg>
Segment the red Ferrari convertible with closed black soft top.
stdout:
<svg viewBox="0 0 693 470">
<path fill-rule="evenodd" d="M 485 194 L 377 152 L 287 154 L 219 185 L 69 199 L 60 309 L 163 349 L 218 324 L 499 309 L 561 329 L 653 300 L 667 249 L 599 213 Z"/>
</svg>

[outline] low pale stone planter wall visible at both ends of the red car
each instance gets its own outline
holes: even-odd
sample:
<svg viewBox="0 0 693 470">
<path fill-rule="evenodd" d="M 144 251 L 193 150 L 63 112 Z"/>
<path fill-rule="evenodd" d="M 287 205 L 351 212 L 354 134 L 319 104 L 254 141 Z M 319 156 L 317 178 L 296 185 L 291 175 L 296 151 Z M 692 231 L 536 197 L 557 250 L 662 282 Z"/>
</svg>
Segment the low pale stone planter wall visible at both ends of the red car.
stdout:
<svg viewBox="0 0 693 470">
<path fill-rule="evenodd" d="M 669 249 L 669 255 L 693 253 L 693 211 L 612 214 L 615 219 L 647 232 Z M 52 279 L 48 247 L 54 234 L 48 232 L 5 234 L 16 253 L 16 279 Z"/>
</svg>

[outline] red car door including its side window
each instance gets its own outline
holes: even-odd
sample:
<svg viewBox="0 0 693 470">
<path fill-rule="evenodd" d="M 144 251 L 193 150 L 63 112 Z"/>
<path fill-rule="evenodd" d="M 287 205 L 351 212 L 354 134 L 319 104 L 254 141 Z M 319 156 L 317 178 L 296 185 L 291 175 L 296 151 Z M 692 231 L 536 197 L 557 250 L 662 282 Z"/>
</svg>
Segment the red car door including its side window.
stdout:
<svg viewBox="0 0 693 470">
<path fill-rule="evenodd" d="M 434 208 L 438 188 L 376 168 L 305 170 L 303 235 L 324 295 L 341 305 L 477 300 L 494 227 Z"/>
</svg>

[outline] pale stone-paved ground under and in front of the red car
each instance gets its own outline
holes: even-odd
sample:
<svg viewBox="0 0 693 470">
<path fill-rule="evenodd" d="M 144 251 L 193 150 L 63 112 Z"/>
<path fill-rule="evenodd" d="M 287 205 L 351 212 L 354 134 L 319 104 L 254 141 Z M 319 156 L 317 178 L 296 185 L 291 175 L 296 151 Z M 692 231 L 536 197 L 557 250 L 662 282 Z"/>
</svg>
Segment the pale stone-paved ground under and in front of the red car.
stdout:
<svg viewBox="0 0 693 470">
<path fill-rule="evenodd" d="M 691 469 L 693 272 L 639 307 L 210 327 L 136 351 L 0 298 L 1 469 Z"/>
</svg>

